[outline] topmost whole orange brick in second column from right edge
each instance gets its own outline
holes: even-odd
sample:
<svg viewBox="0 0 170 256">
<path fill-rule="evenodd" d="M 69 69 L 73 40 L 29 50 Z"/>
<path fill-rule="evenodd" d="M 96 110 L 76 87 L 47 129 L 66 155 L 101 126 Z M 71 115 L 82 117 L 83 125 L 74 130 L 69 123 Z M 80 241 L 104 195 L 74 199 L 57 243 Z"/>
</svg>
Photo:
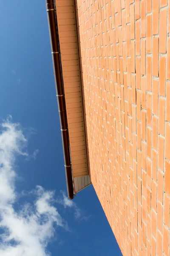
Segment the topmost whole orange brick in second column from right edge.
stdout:
<svg viewBox="0 0 170 256">
<path fill-rule="evenodd" d="M 160 32 L 159 32 L 159 53 L 166 53 L 167 50 L 167 9 L 160 11 Z"/>
</svg>

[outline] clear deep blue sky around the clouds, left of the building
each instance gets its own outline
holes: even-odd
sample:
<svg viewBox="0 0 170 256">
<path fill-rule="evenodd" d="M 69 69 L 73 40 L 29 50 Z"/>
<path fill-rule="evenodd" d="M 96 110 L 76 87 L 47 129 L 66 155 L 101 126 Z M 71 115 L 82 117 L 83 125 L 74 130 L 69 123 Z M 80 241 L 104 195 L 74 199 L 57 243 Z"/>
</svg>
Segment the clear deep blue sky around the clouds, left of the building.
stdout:
<svg viewBox="0 0 170 256">
<path fill-rule="evenodd" d="M 10 154 L 6 153 L 11 157 L 11 166 L 17 174 L 12 181 L 15 200 L 8 204 L 17 212 L 28 203 L 29 207 L 39 207 L 44 200 L 45 204 L 57 209 L 64 224 L 57 225 L 54 221 L 54 236 L 47 239 L 47 252 L 42 255 L 66 256 L 70 252 L 81 256 L 87 252 L 97 256 L 122 255 L 93 186 L 79 192 L 70 206 L 60 192 L 66 192 L 66 183 L 45 1 L 37 0 L 36 4 L 30 0 L 4 1 L 1 9 L 0 121 L 8 127 L 0 140 L 2 136 L 17 134 L 20 136 L 20 142 L 16 144 L 18 148 L 28 141 L 25 148 L 20 148 L 24 155 L 21 153 L 16 157 L 16 148 L 11 149 Z M 9 114 L 12 119 L 3 121 Z M 16 122 L 20 126 L 14 126 Z M 21 134 L 18 135 L 17 131 Z M 6 146 L 0 149 L 6 152 Z M 37 185 L 40 187 L 36 189 Z M 51 195 L 49 191 L 54 190 L 55 195 Z M 49 201 L 44 199 L 47 195 L 51 197 Z M 0 207 L 2 205 L 0 202 Z M 49 211 L 52 210 L 49 207 Z M 35 216 L 33 212 L 35 209 L 31 208 L 31 216 Z M 77 219 L 75 212 L 79 214 Z M 4 226 L 1 225 L 1 233 L 5 231 Z M 15 236 L 10 244 L 17 245 Z M 5 250 L 2 238 L 1 250 Z M 8 254 L 1 252 L 1 255 Z M 21 252 L 17 256 L 25 255 Z"/>
</svg>

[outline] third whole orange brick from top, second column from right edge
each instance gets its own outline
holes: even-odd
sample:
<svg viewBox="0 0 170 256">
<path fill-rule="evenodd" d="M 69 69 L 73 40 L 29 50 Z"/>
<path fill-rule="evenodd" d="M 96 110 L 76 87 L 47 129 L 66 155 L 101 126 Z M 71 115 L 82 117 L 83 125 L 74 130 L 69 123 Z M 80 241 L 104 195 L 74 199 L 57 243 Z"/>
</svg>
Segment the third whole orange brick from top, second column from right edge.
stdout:
<svg viewBox="0 0 170 256">
<path fill-rule="evenodd" d="M 164 122 L 165 122 L 165 100 L 159 98 L 159 127 L 158 132 L 164 136 Z"/>
</svg>

